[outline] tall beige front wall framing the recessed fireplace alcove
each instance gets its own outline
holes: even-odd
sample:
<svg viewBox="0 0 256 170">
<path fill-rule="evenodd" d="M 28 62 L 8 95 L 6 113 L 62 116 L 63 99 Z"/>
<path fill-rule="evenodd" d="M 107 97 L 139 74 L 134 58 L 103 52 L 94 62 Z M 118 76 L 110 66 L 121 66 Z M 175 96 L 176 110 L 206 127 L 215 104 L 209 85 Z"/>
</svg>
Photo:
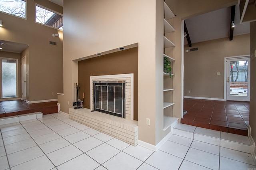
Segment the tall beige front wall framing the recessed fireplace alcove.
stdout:
<svg viewBox="0 0 256 170">
<path fill-rule="evenodd" d="M 162 55 L 156 52 L 156 1 L 65 0 L 64 24 L 64 95 L 58 96 L 60 110 L 68 113 L 74 101 L 76 59 L 138 43 L 139 140 L 155 145 L 156 106 L 163 105 L 162 99 L 156 98 L 156 53 Z M 150 126 L 146 118 L 150 118 Z"/>
</svg>

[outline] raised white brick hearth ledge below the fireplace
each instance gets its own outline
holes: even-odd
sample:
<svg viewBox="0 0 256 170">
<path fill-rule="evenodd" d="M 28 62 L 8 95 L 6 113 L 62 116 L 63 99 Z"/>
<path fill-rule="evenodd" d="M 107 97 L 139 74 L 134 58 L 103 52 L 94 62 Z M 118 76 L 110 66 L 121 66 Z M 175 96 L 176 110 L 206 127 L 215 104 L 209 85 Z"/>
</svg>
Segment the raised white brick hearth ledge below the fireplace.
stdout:
<svg viewBox="0 0 256 170">
<path fill-rule="evenodd" d="M 69 109 L 69 118 L 128 144 L 138 144 L 138 121 L 108 115 L 90 109 Z"/>
</svg>

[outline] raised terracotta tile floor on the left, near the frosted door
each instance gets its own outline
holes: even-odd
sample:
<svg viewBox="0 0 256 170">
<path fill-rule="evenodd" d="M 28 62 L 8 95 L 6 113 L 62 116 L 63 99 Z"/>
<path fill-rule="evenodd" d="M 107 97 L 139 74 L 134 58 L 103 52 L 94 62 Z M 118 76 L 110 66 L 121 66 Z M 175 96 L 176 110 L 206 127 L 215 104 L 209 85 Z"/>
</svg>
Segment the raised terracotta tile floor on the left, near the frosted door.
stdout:
<svg viewBox="0 0 256 170">
<path fill-rule="evenodd" d="M 0 101 L 0 117 L 42 112 L 43 115 L 57 113 L 57 101 L 28 104 L 22 100 Z"/>
</svg>

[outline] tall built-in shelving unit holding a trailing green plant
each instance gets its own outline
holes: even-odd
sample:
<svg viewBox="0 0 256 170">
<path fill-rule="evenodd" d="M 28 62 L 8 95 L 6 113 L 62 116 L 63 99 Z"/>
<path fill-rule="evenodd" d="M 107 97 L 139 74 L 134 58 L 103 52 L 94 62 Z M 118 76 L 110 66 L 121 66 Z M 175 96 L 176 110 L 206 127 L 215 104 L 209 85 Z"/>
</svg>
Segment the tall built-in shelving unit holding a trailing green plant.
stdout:
<svg viewBox="0 0 256 170">
<path fill-rule="evenodd" d="M 174 32 L 174 28 L 169 24 L 168 20 L 171 18 L 174 18 L 175 15 L 173 12 L 170 10 L 168 5 L 164 2 L 164 48 L 169 48 L 169 47 L 175 47 L 175 44 L 170 41 L 167 37 L 166 34 Z M 166 51 L 166 50 L 164 50 Z M 170 51 L 170 50 L 168 50 Z M 163 54 L 163 57 L 167 57 L 171 62 L 174 62 L 175 59 L 168 56 L 167 54 Z M 168 129 L 171 127 L 173 123 L 178 122 L 178 118 L 172 117 L 173 116 L 173 108 L 172 106 L 174 105 L 173 101 L 173 91 L 175 90 L 173 88 L 173 77 L 170 78 L 170 75 L 167 73 L 163 73 L 164 75 L 164 88 L 163 88 L 163 93 L 164 93 L 164 127 L 163 130 Z M 167 77 L 168 76 L 168 77 Z M 172 74 L 172 76 L 175 76 Z"/>
</svg>

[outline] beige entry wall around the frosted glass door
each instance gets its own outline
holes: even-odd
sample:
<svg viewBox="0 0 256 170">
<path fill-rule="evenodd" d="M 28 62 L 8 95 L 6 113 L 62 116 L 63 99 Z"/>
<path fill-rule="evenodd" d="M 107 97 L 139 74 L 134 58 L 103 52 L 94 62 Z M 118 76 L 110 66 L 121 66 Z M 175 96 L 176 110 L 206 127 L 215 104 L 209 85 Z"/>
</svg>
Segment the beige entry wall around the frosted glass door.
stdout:
<svg viewBox="0 0 256 170">
<path fill-rule="evenodd" d="M 18 97 L 21 97 L 21 58 L 20 53 L 0 51 L 0 57 L 18 59 Z M 2 63 L 1 63 L 2 64 Z M 2 76 L 2 75 L 1 75 Z"/>
</svg>

